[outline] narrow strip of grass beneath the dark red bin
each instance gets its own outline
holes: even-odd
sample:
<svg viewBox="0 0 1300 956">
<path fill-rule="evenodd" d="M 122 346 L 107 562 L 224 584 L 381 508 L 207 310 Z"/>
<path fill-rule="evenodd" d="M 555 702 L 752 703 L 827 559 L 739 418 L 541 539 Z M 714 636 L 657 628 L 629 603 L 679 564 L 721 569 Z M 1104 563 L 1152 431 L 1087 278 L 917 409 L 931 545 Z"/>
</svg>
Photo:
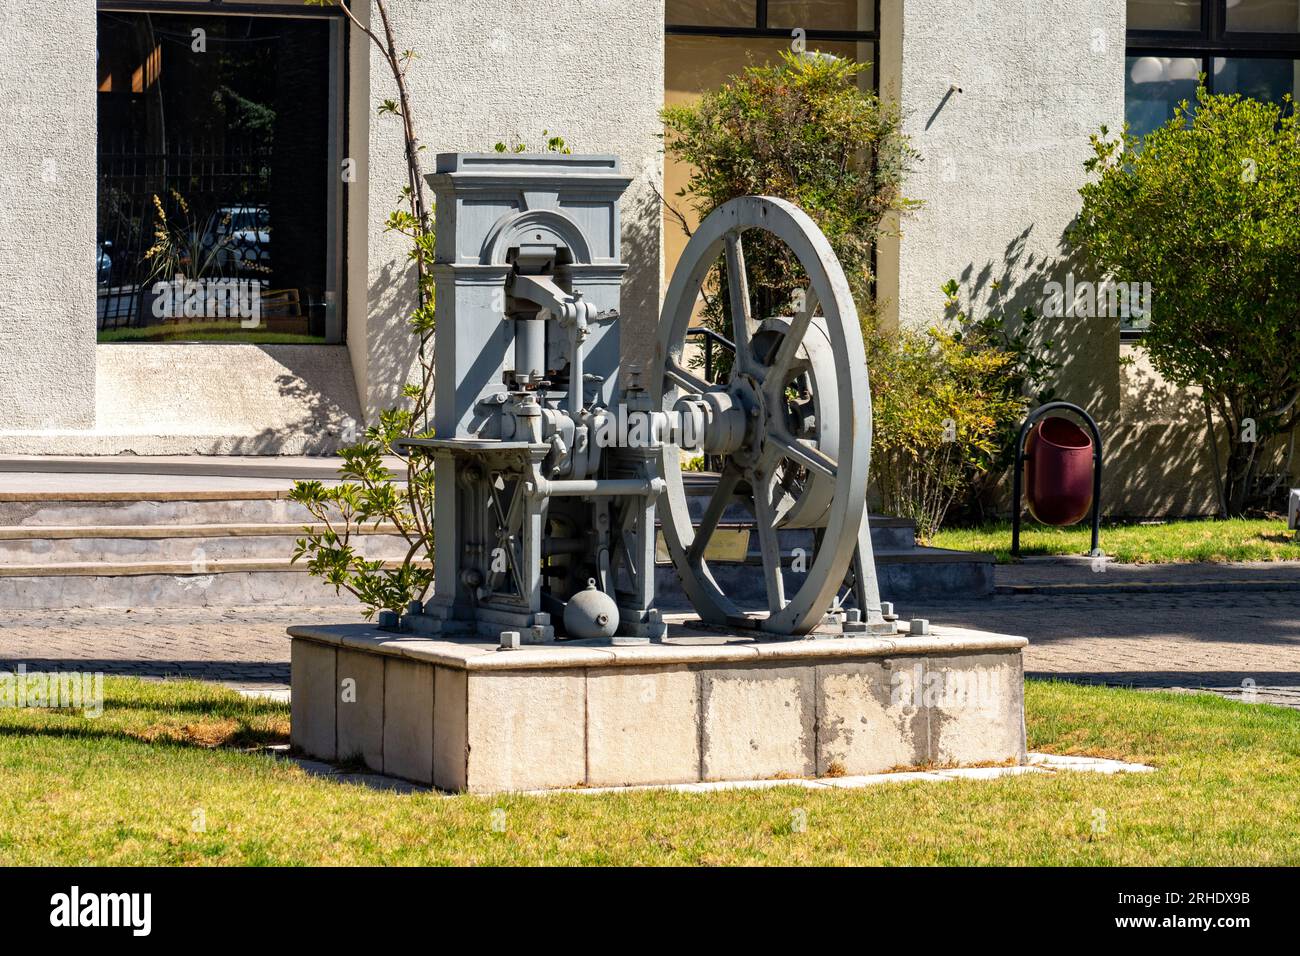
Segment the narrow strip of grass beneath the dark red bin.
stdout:
<svg viewBox="0 0 1300 956">
<path fill-rule="evenodd" d="M 1000 564 L 1011 562 L 1011 523 L 940 531 L 935 548 L 985 551 Z M 1020 525 L 1020 554 L 1087 554 L 1092 528 L 1048 528 L 1032 520 Z M 1190 561 L 1300 561 L 1300 541 L 1284 520 L 1166 522 L 1102 524 L 1101 550 L 1115 561 L 1166 564 Z"/>
</svg>

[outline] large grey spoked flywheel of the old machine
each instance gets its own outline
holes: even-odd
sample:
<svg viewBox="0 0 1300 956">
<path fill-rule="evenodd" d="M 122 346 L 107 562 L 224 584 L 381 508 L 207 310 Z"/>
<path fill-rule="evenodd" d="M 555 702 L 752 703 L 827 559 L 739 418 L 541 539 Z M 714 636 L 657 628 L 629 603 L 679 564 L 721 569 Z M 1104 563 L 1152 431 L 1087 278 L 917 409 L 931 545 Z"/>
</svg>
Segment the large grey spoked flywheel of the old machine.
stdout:
<svg viewBox="0 0 1300 956">
<path fill-rule="evenodd" d="M 679 268 L 664 297 L 655 351 L 655 375 L 651 376 L 650 386 L 654 389 L 655 407 L 666 411 L 671 410 L 681 394 L 710 390 L 711 386 L 685 368 L 681 356 L 701 286 L 719 254 L 725 251 L 728 285 L 733 297 L 738 297 L 733 298 L 733 302 L 744 303 L 732 310 L 733 316 L 740 319 L 733 320 L 732 328 L 736 360 L 729 385 L 736 384 L 737 376 L 749 376 L 750 381 L 759 382 L 766 408 L 779 407 L 777 401 L 784 402 L 784 392 L 779 397 L 770 394 L 770 386 L 776 378 L 770 381 L 767 377 L 760 377 L 763 368 L 758 367 L 750 354 L 750 336 L 759 328 L 759 321 L 748 315 L 748 276 L 745 276 L 741 237 L 754 229 L 772 234 L 790 250 L 809 277 L 811 293 L 809 299 L 812 299 L 806 302 L 805 312 L 793 319 L 792 325 L 798 332 L 797 341 L 789 347 L 783 345 L 776 350 L 771 356 L 774 365 L 789 367 L 811 325 L 812 312 L 818 306 L 822 308 L 826 330 L 833 346 L 835 377 L 841 395 L 837 458 L 831 459 L 815 446 L 789 436 L 783 414 L 780 423 L 771 429 L 772 434 L 755 438 L 762 444 L 753 467 L 742 472 L 732 457 L 725 459 L 714 501 L 710 502 L 701 522 L 701 533 L 707 541 L 736 486 L 748 475 L 754 490 L 753 511 L 768 587 L 766 618 L 749 617 L 722 592 L 703 558 L 703 546 L 697 546 L 697 533 L 686 507 L 681 477 L 681 455 L 676 445 L 664 445 L 660 450 L 660 475 L 667 483 L 667 490 L 660 497 L 662 527 L 668 553 L 686 596 L 701 618 L 715 624 L 757 623 L 772 633 L 802 635 L 822 623 L 853 561 L 866 510 L 871 457 L 871 395 L 857 307 L 844 269 L 829 242 L 802 209 L 772 196 L 744 196 L 720 206 L 699 224 L 682 251 Z M 741 281 L 734 280 L 736 274 Z M 741 324 L 744 329 L 740 328 Z M 766 368 L 770 371 L 771 365 Z M 771 415 L 763 418 L 771 424 Z M 828 472 L 827 477 L 833 480 L 835 486 L 827 509 L 826 524 L 829 531 L 823 536 L 826 542 L 812 555 L 805 581 L 788 600 L 784 596 L 784 570 L 780 564 L 776 531 L 764 523 L 764 515 L 771 518 L 771 524 L 776 522 L 771 499 L 772 475 L 768 472 L 775 472 L 776 463 L 781 460 L 798 462 L 810 471 Z M 766 496 L 759 494 L 760 488 L 767 492 Z"/>
</svg>

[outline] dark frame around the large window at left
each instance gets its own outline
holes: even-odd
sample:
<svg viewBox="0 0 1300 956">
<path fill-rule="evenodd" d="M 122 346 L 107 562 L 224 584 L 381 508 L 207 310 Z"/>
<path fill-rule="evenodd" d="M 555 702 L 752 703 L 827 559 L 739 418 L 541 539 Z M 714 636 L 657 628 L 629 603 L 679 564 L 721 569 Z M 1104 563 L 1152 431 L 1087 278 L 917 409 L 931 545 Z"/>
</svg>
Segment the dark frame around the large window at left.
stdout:
<svg viewBox="0 0 1300 956">
<path fill-rule="evenodd" d="M 344 0 L 348 7 L 352 0 Z M 307 7 L 299 3 L 224 3 L 224 0 L 96 0 L 95 13 L 157 13 L 185 16 L 274 17 L 296 20 L 326 20 L 332 22 L 329 43 L 334 56 L 329 69 L 329 160 L 335 169 L 342 168 L 347 155 L 351 114 L 351 23 L 337 7 Z M 96 135 L 96 150 L 99 139 Z M 339 346 L 347 342 L 347 183 L 339 178 L 337 187 L 326 196 L 326 250 L 325 284 L 333 287 L 333 308 L 326 303 L 325 336 L 320 346 Z M 238 338 L 204 342 L 205 345 L 248 345 Z M 125 343 L 138 346 L 139 343 Z M 156 345 L 188 345 L 183 339 Z M 307 346 L 312 347 L 312 346 Z"/>
</svg>

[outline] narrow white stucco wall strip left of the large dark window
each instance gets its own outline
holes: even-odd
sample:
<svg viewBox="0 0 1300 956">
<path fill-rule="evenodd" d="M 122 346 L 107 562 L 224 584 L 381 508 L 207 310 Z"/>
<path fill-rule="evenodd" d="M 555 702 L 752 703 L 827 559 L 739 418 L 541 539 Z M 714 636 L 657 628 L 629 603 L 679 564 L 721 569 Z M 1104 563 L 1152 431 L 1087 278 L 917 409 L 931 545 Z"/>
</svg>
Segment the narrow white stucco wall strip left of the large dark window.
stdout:
<svg viewBox="0 0 1300 956">
<path fill-rule="evenodd" d="M 95 3 L 0 0 L 0 429 L 95 421 Z"/>
</svg>

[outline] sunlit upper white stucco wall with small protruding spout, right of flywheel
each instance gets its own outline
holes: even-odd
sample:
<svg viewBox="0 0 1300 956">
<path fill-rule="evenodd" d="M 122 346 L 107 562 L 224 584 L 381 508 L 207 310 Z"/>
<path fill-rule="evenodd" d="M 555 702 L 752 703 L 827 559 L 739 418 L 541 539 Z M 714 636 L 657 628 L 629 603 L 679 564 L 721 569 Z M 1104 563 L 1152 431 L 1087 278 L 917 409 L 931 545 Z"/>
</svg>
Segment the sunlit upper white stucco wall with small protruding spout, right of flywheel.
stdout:
<svg viewBox="0 0 1300 956">
<path fill-rule="evenodd" d="M 888 313 L 935 321 L 949 278 L 980 300 L 993 280 L 1040 295 L 1079 209 L 1088 135 L 1123 122 L 1124 0 L 881 7 L 881 94 L 922 153 L 906 191 L 926 202 L 883 269 Z"/>
</svg>

